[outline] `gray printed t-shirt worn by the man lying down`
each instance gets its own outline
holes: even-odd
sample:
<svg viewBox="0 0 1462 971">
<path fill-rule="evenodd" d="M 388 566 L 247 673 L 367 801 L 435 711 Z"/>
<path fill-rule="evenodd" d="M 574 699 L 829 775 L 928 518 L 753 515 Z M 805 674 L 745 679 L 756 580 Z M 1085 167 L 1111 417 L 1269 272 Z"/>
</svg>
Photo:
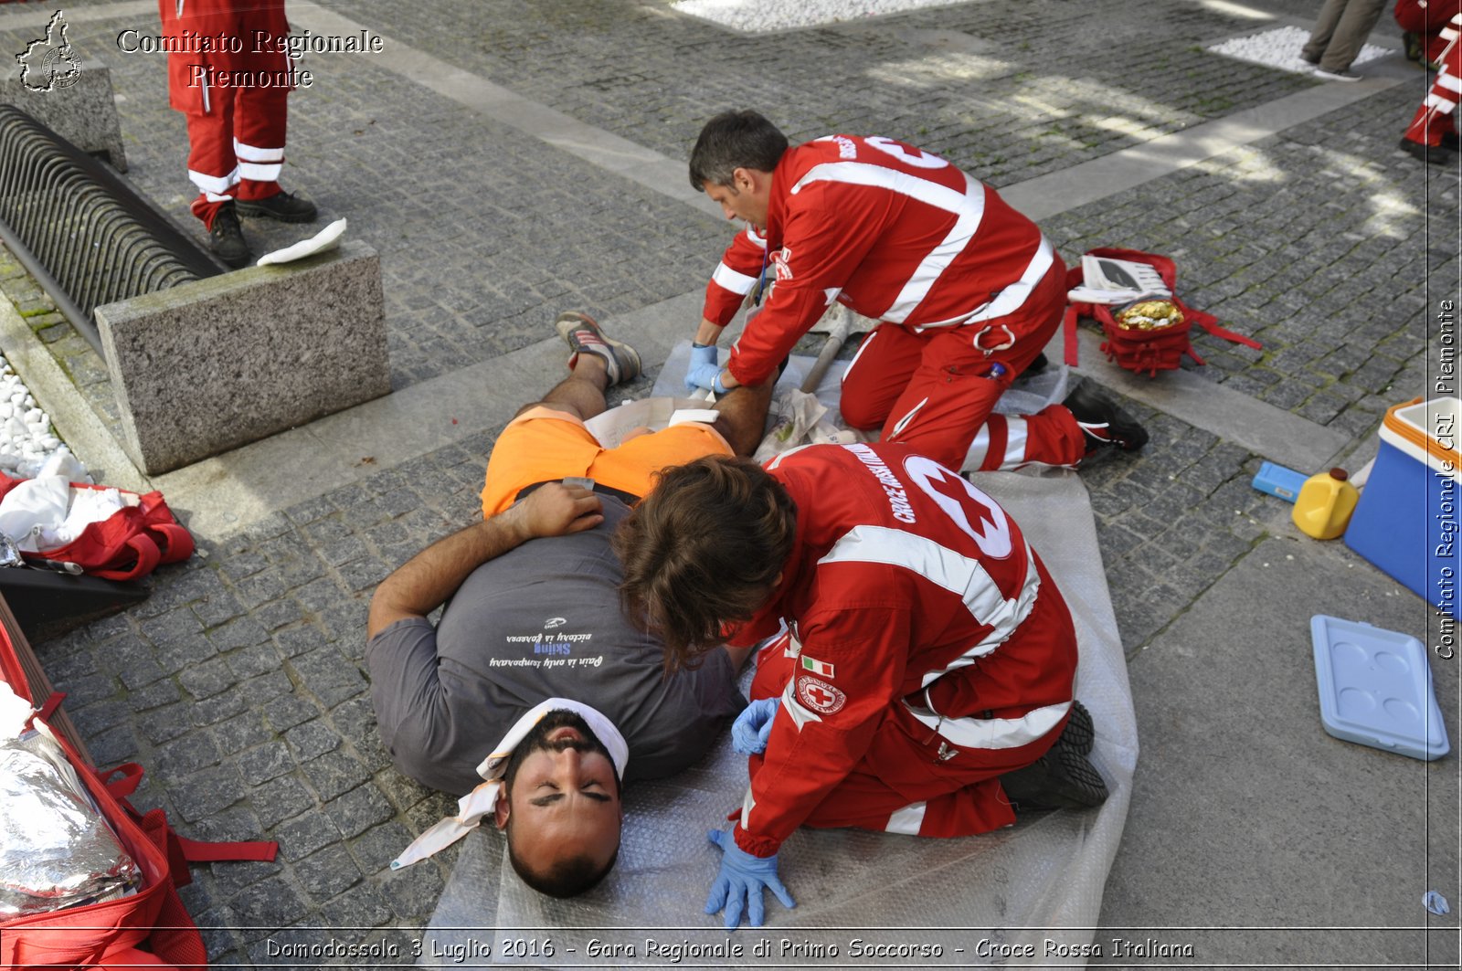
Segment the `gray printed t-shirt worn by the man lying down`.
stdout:
<svg viewBox="0 0 1462 971">
<path fill-rule="evenodd" d="M 366 646 L 386 749 L 411 778 L 452 794 L 525 711 L 570 698 L 604 712 L 630 747 L 626 778 L 694 763 L 746 700 L 725 651 L 664 677 L 659 641 L 620 610 L 610 548 L 629 513 L 604 497 L 604 522 L 532 540 L 477 567 L 433 629 L 398 620 Z"/>
</svg>

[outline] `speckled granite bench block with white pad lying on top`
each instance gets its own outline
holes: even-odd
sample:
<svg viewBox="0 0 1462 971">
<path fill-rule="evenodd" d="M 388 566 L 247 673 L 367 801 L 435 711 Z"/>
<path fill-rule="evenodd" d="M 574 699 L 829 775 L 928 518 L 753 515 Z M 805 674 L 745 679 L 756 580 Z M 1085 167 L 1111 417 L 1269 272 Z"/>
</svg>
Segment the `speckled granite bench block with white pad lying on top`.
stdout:
<svg viewBox="0 0 1462 971">
<path fill-rule="evenodd" d="M 123 449 L 149 475 L 390 392 L 363 243 L 107 304 L 96 323 Z"/>
</svg>

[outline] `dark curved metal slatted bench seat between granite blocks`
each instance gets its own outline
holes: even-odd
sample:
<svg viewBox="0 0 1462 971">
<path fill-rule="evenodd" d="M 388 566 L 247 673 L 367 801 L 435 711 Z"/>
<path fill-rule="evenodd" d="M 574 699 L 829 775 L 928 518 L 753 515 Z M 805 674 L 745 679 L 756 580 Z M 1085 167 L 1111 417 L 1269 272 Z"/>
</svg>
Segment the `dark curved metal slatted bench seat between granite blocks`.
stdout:
<svg viewBox="0 0 1462 971">
<path fill-rule="evenodd" d="M 102 162 L 0 105 L 0 240 L 101 354 L 92 311 L 225 272 Z"/>
</svg>

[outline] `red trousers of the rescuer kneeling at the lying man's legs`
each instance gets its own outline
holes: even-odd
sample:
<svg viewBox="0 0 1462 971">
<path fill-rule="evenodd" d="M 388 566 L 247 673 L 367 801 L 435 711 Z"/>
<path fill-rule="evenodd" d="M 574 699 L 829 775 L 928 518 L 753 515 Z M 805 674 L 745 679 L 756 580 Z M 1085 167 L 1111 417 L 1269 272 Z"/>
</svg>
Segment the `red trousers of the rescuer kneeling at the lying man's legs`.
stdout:
<svg viewBox="0 0 1462 971">
<path fill-rule="evenodd" d="M 921 333 L 879 325 L 844 374 L 844 421 L 882 426 L 883 442 L 914 446 L 952 469 L 966 456 L 981 471 L 1076 465 L 1086 440 L 1064 407 L 1019 418 L 993 411 L 1060 328 L 1064 310 L 1066 265 L 1057 256 L 1020 309 L 1004 317 Z M 1004 373 L 994 374 L 994 364 Z"/>
</svg>

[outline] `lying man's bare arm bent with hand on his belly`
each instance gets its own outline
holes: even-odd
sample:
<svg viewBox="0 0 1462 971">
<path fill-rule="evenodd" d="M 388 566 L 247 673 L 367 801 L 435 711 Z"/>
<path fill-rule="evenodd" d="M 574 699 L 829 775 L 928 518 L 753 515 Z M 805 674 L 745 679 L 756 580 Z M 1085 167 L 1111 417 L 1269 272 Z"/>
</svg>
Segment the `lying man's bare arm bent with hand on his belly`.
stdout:
<svg viewBox="0 0 1462 971">
<path fill-rule="evenodd" d="M 529 540 L 592 529 L 604 521 L 602 509 L 588 488 L 548 483 L 507 512 L 437 540 L 376 588 L 366 636 L 398 620 L 425 617 L 478 566 Z"/>
</svg>

